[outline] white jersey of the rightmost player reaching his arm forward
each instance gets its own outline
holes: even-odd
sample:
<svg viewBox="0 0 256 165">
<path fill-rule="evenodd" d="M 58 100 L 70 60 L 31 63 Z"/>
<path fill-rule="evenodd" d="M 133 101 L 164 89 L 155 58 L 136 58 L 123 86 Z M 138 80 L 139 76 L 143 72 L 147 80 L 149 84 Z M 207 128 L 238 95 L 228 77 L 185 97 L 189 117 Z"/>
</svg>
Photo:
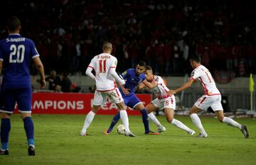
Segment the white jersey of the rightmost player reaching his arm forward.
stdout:
<svg viewBox="0 0 256 165">
<path fill-rule="evenodd" d="M 216 87 L 213 76 L 203 65 L 199 65 L 196 69 L 193 69 L 191 79 L 196 79 L 197 81 L 201 82 L 205 95 L 220 95 L 220 91 Z"/>
</svg>

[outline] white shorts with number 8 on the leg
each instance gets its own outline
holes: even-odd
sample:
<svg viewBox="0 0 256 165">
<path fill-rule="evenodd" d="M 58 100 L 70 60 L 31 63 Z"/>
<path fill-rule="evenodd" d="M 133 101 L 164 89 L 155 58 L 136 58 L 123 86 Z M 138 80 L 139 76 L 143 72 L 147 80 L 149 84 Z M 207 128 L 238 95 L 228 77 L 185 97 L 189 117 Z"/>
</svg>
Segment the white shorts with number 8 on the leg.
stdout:
<svg viewBox="0 0 256 165">
<path fill-rule="evenodd" d="M 161 110 L 164 108 L 171 108 L 175 110 L 176 108 L 176 101 L 174 95 L 161 100 L 159 100 L 159 98 L 155 98 L 153 101 L 151 101 L 151 103 L 153 103 L 154 106 L 160 108 Z"/>
</svg>

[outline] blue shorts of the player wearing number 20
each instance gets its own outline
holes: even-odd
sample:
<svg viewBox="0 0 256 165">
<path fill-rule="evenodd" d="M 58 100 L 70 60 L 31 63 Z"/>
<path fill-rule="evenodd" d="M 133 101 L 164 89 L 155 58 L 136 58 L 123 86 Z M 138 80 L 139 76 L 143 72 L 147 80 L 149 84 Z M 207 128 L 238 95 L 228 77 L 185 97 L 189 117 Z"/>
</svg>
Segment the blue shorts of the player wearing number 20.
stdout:
<svg viewBox="0 0 256 165">
<path fill-rule="evenodd" d="M 31 113 L 32 89 L 1 89 L 0 112 L 14 113 L 15 105 L 18 112 Z"/>
</svg>

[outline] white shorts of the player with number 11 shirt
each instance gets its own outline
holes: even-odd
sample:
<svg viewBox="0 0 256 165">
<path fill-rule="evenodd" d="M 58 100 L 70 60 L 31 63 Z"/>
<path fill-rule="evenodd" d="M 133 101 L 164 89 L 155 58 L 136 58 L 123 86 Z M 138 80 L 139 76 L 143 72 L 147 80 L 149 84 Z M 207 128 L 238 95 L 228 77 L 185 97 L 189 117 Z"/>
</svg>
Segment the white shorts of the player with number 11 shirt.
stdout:
<svg viewBox="0 0 256 165">
<path fill-rule="evenodd" d="M 121 103 L 124 101 L 119 89 L 115 88 L 112 91 L 95 91 L 93 105 L 103 106 L 107 103 L 107 98 L 109 98 L 112 103 Z"/>
</svg>

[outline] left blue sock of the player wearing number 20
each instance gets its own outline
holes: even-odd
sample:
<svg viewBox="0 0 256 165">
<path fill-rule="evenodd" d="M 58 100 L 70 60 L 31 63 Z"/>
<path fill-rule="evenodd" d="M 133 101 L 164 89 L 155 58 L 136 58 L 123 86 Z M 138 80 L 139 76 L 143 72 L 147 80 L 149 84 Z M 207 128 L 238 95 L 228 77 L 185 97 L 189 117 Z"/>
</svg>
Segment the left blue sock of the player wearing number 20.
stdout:
<svg viewBox="0 0 256 165">
<path fill-rule="evenodd" d="M 11 130 L 11 120 L 1 119 L 1 149 L 8 149 L 9 132 Z"/>
</svg>

